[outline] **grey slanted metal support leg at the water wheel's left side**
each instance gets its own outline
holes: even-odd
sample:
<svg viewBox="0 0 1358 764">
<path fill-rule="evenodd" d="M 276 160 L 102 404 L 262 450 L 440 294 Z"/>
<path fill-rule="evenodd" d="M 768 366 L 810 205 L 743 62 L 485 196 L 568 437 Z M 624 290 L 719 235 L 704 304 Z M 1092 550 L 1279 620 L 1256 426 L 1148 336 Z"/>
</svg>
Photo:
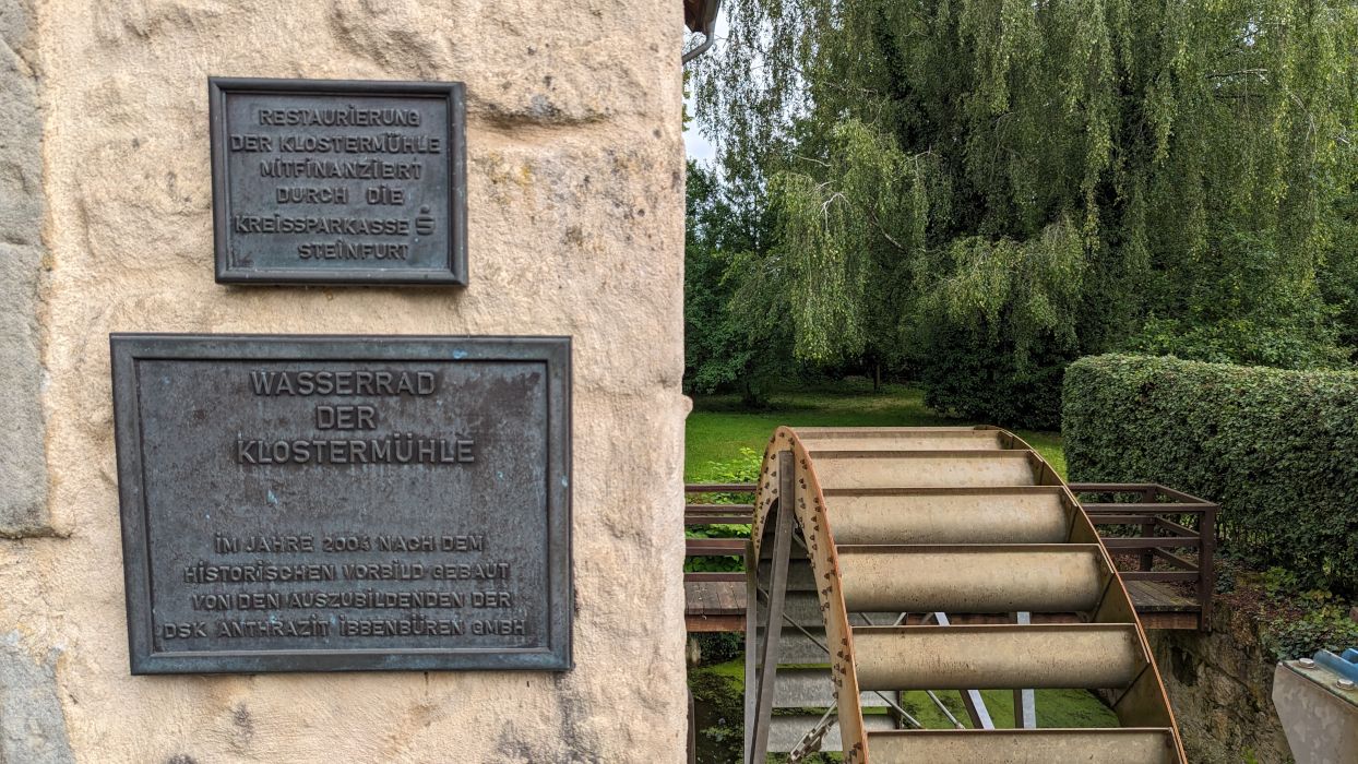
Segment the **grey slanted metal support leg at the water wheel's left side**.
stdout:
<svg viewBox="0 0 1358 764">
<path fill-rule="evenodd" d="M 790 451 L 778 452 L 778 499 L 773 506 L 774 536 L 773 559 L 770 560 L 769 617 L 765 622 L 765 639 L 760 646 L 760 660 L 754 692 L 754 718 L 746 721 L 750 730 L 748 764 L 763 764 L 769 757 L 769 726 L 773 721 L 773 688 L 778 677 L 778 642 L 782 634 L 782 604 L 788 593 L 788 559 L 792 555 L 792 527 L 796 499 L 793 480 L 794 461 Z M 759 574 L 759 560 L 750 566 L 750 581 Z M 748 664 L 748 657 L 747 657 Z M 748 687 L 748 674 L 747 674 Z M 747 708 L 750 706 L 747 693 Z"/>
</svg>

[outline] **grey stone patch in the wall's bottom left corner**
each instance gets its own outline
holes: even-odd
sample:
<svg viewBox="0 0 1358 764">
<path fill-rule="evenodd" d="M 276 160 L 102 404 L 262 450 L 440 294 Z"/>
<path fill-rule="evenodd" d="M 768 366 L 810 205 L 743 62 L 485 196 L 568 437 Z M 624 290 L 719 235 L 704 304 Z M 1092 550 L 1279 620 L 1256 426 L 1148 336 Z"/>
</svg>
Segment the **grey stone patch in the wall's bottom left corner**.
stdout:
<svg viewBox="0 0 1358 764">
<path fill-rule="evenodd" d="M 56 651 L 35 661 L 15 632 L 0 636 L 0 764 L 73 761 L 57 698 Z"/>
</svg>

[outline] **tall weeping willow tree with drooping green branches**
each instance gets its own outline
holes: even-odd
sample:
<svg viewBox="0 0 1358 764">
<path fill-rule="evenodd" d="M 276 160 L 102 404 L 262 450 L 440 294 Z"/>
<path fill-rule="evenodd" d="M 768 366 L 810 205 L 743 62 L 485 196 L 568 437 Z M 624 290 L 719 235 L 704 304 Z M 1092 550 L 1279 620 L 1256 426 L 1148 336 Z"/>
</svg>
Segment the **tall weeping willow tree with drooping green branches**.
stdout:
<svg viewBox="0 0 1358 764">
<path fill-rule="evenodd" d="M 803 360 L 884 360 L 936 406 L 1038 425 L 1090 351 L 1346 362 L 1353 3 L 728 8 L 698 114 L 769 189 L 750 289 L 786 296 Z"/>
</svg>

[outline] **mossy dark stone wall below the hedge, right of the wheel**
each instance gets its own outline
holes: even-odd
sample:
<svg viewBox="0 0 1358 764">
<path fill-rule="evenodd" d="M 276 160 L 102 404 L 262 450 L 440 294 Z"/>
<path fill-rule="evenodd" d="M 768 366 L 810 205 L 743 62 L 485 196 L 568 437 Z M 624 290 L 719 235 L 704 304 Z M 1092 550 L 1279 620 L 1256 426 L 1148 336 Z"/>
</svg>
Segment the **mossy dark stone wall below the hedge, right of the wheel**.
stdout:
<svg viewBox="0 0 1358 764">
<path fill-rule="evenodd" d="M 1272 706 L 1277 665 L 1259 643 L 1259 626 L 1217 600 L 1211 632 L 1150 631 L 1188 760 L 1195 764 L 1290 763 Z"/>
</svg>

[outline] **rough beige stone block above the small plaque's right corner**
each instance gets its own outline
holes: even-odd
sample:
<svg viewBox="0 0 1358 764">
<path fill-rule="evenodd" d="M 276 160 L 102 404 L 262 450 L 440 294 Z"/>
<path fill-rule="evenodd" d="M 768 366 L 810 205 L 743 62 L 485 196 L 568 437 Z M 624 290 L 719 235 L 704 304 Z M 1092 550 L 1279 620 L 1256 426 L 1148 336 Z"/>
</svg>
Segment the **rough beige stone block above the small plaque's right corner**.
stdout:
<svg viewBox="0 0 1358 764">
<path fill-rule="evenodd" d="M 539 0 L 340 0 L 329 20 L 340 47 L 384 76 L 459 72 L 471 114 L 513 128 L 667 109 L 648 77 L 657 64 L 676 66 L 674 35 L 660 28 L 669 11 L 607 0 L 558 3 L 550 14 Z"/>
</svg>

